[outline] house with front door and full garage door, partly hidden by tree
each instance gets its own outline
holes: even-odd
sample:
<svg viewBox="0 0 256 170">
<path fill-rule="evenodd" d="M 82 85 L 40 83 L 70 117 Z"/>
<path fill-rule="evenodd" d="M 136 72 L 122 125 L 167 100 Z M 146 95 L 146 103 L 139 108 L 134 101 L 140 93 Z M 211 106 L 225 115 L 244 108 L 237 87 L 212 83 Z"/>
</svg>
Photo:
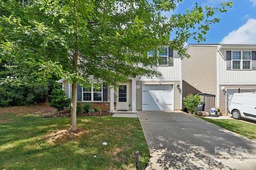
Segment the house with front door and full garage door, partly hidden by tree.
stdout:
<svg viewBox="0 0 256 170">
<path fill-rule="evenodd" d="M 130 77 L 129 81 L 119 84 L 121 88 L 102 85 L 101 90 L 86 89 L 78 85 L 78 102 L 91 102 L 94 107 L 102 107 L 108 111 L 146 111 L 146 110 L 181 110 L 181 60 L 177 51 L 164 47 L 160 53 L 162 62 L 152 69 L 162 76 L 146 78 L 145 76 Z M 148 53 L 149 57 L 152 52 Z M 71 98 L 72 86 L 66 80 L 59 80 L 63 90 Z M 95 82 L 91 80 L 91 82 Z M 103 88 L 104 86 L 104 88 Z"/>
</svg>

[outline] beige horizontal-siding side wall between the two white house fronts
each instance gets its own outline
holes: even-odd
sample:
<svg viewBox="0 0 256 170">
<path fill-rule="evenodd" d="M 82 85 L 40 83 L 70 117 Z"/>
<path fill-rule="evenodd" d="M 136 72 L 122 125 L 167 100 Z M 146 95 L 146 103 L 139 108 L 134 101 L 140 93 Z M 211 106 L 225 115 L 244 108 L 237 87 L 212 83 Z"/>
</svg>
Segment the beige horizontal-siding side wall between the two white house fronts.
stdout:
<svg viewBox="0 0 256 170">
<path fill-rule="evenodd" d="M 188 94 L 217 95 L 216 46 L 189 46 L 191 56 L 182 61 L 183 97 Z"/>
</svg>

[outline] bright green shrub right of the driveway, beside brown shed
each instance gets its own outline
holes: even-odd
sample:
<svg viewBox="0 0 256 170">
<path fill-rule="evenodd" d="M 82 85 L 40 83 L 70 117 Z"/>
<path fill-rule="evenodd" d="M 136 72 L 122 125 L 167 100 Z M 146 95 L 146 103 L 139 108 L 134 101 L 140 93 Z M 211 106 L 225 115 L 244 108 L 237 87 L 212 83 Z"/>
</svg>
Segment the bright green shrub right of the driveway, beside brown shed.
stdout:
<svg viewBox="0 0 256 170">
<path fill-rule="evenodd" d="M 200 99 L 201 96 L 198 96 L 198 94 L 189 94 L 186 98 L 183 98 L 183 103 L 188 109 L 188 113 L 194 114 L 197 111 L 196 107 L 200 104 Z"/>
</svg>

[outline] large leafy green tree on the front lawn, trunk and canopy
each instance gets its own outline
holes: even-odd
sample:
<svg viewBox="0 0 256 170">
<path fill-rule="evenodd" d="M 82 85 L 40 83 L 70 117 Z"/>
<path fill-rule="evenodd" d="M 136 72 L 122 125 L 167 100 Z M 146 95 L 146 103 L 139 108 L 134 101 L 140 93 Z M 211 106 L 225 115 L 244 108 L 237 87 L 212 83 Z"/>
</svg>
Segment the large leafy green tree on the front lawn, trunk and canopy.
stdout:
<svg viewBox="0 0 256 170">
<path fill-rule="evenodd" d="M 91 86 L 90 75 L 117 86 L 129 75 L 158 74 L 150 68 L 158 60 L 156 51 L 161 46 L 168 45 L 180 56 L 188 57 L 184 43 L 190 37 L 204 41 L 210 24 L 219 21 L 214 14 L 232 6 L 232 2 L 217 8 L 196 4 L 192 11 L 167 18 L 161 13 L 175 10 L 176 0 L 0 2 L 4 9 L 0 18 L 0 55 L 9 61 L 8 69 L 13 73 L 5 81 L 46 82 L 53 74 L 69 80 L 72 131 L 77 129 L 77 84 Z M 154 51 L 155 56 L 148 58 L 148 51 Z"/>
</svg>

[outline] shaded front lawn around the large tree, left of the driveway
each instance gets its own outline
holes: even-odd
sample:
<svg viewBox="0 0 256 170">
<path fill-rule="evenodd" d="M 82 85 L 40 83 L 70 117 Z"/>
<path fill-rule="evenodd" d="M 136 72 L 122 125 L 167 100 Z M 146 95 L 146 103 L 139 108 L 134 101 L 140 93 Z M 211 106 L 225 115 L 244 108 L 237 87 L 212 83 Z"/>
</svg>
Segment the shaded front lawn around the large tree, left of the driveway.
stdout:
<svg viewBox="0 0 256 170">
<path fill-rule="evenodd" d="M 77 117 L 82 135 L 52 141 L 69 123 L 70 117 L 0 113 L 0 169 L 132 170 L 135 150 L 146 167 L 150 155 L 138 119 Z"/>
</svg>

